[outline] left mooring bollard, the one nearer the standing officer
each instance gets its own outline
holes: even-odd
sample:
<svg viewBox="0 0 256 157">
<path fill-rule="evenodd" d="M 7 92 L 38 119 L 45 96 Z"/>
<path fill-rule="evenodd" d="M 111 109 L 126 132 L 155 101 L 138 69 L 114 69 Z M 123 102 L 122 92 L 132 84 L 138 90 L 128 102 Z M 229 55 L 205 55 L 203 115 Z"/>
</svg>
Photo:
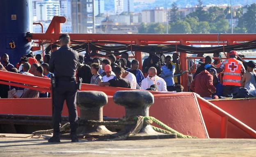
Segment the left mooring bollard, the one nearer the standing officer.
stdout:
<svg viewBox="0 0 256 157">
<path fill-rule="evenodd" d="M 101 91 L 78 91 L 76 104 L 80 107 L 81 120 L 96 120 L 103 122 L 103 106 L 107 104 L 107 95 Z M 82 135 L 112 134 L 105 126 L 85 125 L 78 128 Z"/>
</svg>

